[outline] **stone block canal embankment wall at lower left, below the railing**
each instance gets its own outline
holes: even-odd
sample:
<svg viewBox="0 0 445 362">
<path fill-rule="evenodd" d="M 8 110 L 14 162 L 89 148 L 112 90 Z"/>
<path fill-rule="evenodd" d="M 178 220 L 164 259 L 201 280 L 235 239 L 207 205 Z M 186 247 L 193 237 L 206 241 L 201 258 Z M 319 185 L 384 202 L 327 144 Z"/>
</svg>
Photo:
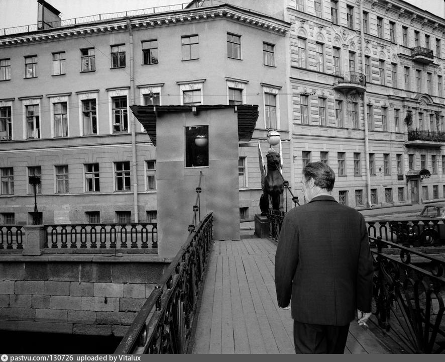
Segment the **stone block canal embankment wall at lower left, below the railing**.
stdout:
<svg viewBox="0 0 445 362">
<path fill-rule="evenodd" d="M 123 336 L 170 261 L 143 258 L 0 255 L 0 330 Z"/>
</svg>

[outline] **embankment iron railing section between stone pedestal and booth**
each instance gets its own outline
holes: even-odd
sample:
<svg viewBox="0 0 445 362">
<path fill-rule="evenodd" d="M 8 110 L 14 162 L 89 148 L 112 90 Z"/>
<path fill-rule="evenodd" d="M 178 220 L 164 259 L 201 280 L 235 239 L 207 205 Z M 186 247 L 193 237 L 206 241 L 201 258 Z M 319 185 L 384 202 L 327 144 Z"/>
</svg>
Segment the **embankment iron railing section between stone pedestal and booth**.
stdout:
<svg viewBox="0 0 445 362">
<path fill-rule="evenodd" d="M 158 248 L 156 223 L 44 225 L 50 249 Z"/>
</svg>

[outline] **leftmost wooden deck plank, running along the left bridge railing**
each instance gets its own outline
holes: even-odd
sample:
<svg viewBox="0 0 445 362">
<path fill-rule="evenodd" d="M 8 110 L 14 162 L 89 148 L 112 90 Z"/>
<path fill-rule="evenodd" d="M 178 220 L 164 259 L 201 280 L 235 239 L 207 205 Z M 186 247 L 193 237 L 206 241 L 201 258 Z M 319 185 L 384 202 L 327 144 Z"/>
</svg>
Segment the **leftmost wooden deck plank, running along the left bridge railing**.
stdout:
<svg viewBox="0 0 445 362">
<path fill-rule="evenodd" d="M 205 275 L 202 300 L 200 302 L 194 345 L 192 353 L 207 354 L 210 347 L 210 330 L 213 309 L 213 295 L 216 277 L 216 255 L 212 250 L 209 256 L 207 272 Z"/>
</svg>

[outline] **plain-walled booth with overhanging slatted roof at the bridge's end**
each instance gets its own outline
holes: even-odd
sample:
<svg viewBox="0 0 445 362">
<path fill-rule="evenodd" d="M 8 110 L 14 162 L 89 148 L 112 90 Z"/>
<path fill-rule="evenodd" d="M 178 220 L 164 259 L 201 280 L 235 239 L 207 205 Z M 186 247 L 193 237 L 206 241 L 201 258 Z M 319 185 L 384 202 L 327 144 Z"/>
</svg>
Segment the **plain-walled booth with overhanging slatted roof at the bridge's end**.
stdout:
<svg viewBox="0 0 445 362">
<path fill-rule="evenodd" d="M 159 256 L 176 255 L 193 217 L 213 212 L 215 240 L 240 239 L 239 141 L 250 141 L 257 105 L 131 106 L 156 146 Z"/>
</svg>

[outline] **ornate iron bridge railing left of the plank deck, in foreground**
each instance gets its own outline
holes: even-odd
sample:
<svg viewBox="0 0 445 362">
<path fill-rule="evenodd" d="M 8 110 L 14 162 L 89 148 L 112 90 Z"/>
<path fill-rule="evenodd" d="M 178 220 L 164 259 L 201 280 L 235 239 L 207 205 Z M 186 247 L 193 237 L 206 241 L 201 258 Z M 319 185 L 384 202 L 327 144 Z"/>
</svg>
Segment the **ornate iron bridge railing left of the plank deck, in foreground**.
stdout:
<svg viewBox="0 0 445 362">
<path fill-rule="evenodd" d="M 115 353 L 185 353 L 207 267 L 213 215 L 190 232 Z"/>
</svg>

